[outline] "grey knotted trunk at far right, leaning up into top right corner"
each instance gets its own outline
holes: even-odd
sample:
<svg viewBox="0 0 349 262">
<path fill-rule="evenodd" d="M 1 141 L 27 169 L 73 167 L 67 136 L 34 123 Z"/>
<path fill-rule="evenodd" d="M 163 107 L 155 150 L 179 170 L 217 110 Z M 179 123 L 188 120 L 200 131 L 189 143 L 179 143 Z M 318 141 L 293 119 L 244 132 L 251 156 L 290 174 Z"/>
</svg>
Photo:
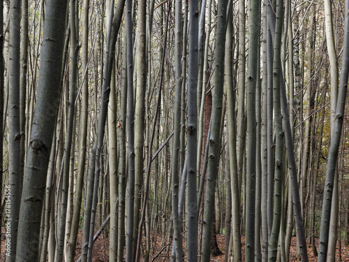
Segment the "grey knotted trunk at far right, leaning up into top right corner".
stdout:
<svg viewBox="0 0 349 262">
<path fill-rule="evenodd" d="M 322 215 L 321 215 L 321 227 L 320 227 L 320 245 L 318 261 L 326 261 L 327 247 L 329 239 L 329 221 L 332 205 L 332 191 L 334 184 L 334 172 L 336 170 L 336 161 L 339 152 L 339 143 L 341 140 L 341 129 L 343 125 L 343 115 L 346 105 L 346 92 L 348 84 L 348 71 L 349 71 L 349 1 L 346 0 L 346 12 L 345 12 L 345 28 L 344 28 L 344 40 L 343 40 L 343 59 L 341 69 L 341 80 L 339 82 L 339 95 L 336 105 L 336 120 L 334 122 L 334 128 L 331 136 L 331 145 L 329 147 L 329 154 L 327 160 L 325 189 L 322 202 Z"/>
</svg>

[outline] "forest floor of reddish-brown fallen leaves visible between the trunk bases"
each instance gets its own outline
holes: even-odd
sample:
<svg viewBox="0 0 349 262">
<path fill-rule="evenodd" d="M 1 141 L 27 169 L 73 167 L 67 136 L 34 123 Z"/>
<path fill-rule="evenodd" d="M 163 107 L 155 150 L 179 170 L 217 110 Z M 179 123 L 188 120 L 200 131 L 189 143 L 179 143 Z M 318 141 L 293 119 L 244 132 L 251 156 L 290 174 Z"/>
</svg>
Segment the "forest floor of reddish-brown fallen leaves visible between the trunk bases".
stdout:
<svg viewBox="0 0 349 262">
<path fill-rule="evenodd" d="M 4 256 L 4 246 L 5 246 L 5 235 L 4 235 L 4 229 L 2 229 L 2 235 L 1 235 L 1 256 L 0 256 L 0 262 L 5 261 Z M 80 243 L 82 240 L 82 231 L 79 232 L 78 235 L 78 247 L 76 251 L 76 258 L 77 260 L 80 257 Z M 225 236 L 224 235 L 217 235 L 217 241 L 218 241 L 218 247 L 223 252 L 223 255 L 221 256 L 215 256 L 211 258 L 211 261 L 214 262 L 222 262 L 224 261 L 224 247 L 225 247 Z M 245 238 L 242 237 L 242 254 L 244 257 L 244 242 Z M 315 240 L 315 245 L 318 247 L 318 239 Z M 165 247 L 166 246 L 166 247 Z M 151 252 L 151 259 L 150 261 L 170 261 L 170 245 L 161 244 L 161 238 L 156 238 L 156 243 L 154 245 L 154 252 Z M 341 260 L 339 256 L 339 250 L 341 249 Z M 296 238 L 292 238 L 291 243 L 291 249 L 290 249 L 290 261 L 297 261 L 295 259 L 295 253 L 296 253 Z M 309 261 L 316 261 L 316 257 L 313 255 L 313 251 L 311 250 L 311 247 L 308 248 L 308 256 Z M 94 243 L 94 251 L 93 251 L 93 257 L 92 261 L 94 262 L 106 262 L 109 261 L 109 238 L 103 239 L 102 236 L 96 240 Z M 242 259 L 244 261 L 244 259 Z M 336 261 L 346 261 L 349 262 L 349 247 L 346 247 L 344 245 L 343 240 L 341 241 L 341 247 L 339 247 L 339 243 L 337 243 L 336 247 Z"/>
</svg>

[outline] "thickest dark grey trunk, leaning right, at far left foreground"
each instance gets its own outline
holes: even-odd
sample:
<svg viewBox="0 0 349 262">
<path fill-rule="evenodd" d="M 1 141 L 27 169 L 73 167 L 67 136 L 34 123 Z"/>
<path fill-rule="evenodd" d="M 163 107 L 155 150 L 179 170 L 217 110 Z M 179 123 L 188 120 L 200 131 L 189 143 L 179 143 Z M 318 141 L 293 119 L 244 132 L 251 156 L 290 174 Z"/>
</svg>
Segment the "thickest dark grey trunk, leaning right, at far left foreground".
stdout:
<svg viewBox="0 0 349 262">
<path fill-rule="evenodd" d="M 41 210 L 55 127 L 52 119 L 56 120 L 60 97 L 67 5 L 68 1 L 46 2 L 40 76 L 27 153 L 16 261 L 38 261 Z"/>
</svg>

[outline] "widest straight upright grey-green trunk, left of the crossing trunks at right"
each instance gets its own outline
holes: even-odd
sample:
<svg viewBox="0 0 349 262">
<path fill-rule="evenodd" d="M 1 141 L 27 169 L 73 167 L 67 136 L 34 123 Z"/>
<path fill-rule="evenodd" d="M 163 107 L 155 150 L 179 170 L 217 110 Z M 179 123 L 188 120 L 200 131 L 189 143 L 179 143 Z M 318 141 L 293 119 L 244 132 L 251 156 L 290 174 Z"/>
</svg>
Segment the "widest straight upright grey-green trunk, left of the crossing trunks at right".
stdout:
<svg viewBox="0 0 349 262">
<path fill-rule="evenodd" d="M 247 76 L 247 142 L 246 142 L 246 242 L 245 261 L 254 261 L 255 257 L 255 168 L 256 168 L 256 119 L 255 89 L 258 73 L 258 50 L 260 41 L 260 1 L 251 1 L 250 44 L 248 48 Z"/>
</svg>

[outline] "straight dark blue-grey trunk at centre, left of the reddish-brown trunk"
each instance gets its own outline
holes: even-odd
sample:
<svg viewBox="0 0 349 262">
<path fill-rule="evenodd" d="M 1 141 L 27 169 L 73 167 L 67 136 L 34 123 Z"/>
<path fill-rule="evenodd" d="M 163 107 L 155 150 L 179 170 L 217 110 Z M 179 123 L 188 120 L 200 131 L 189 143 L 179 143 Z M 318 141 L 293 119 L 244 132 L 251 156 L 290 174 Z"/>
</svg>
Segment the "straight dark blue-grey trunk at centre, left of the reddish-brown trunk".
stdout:
<svg viewBox="0 0 349 262">
<path fill-rule="evenodd" d="M 198 1 L 189 3 L 189 68 L 188 68 L 188 194 L 186 212 L 188 220 L 188 240 L 186 252 L 188 262 L 198 260 L 198 206 L 196 196 L 196 153 L 198 129 Z"/>
</svg>

